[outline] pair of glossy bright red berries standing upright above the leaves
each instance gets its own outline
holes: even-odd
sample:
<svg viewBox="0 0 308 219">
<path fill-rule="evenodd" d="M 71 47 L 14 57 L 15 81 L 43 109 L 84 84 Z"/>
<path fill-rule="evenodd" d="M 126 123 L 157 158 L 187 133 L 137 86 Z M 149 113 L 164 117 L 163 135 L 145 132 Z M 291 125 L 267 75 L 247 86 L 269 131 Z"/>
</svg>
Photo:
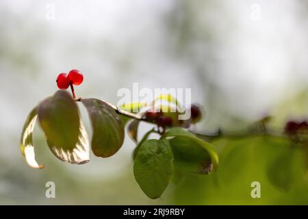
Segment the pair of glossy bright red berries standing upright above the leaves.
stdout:
<svg viewBox="0 0 308 219">
<path fill-rule="evenodd" d="M 70 84 L 79 85 L 84 81 L 84 75 L 77 69 L 70 70 L 68 74 L 61 73 L 57 76 L 57 87 L 60 89 L 67 89 Z"/>
</svg>

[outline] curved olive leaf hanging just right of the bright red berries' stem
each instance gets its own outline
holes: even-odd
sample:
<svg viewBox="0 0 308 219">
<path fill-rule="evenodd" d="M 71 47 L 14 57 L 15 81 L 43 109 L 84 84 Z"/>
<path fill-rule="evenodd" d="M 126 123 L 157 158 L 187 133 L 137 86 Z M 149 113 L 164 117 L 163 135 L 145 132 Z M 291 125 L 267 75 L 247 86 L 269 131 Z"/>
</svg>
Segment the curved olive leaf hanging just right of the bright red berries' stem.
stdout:
<svg viewBox="0 0 308 219">
<path fill-rule="evenodd" d="M 114 155 L 123 144 L 124 125 L 114 108 L 98 99 L 82 99 L 92 122 L 92 151 L 97 157 Z"/>
</svg>

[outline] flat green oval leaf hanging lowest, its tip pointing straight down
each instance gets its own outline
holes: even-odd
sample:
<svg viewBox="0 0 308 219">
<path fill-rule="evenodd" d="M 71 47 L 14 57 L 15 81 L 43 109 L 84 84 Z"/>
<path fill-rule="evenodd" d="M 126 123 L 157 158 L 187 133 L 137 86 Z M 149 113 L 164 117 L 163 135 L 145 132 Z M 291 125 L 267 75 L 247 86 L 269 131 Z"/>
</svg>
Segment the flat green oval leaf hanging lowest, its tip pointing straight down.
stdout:
<svg viewBox="0 0 308 219">
<path fill-rule="evenodd" d="M 133 174 L 149 198 L 162 195 L 172 175 L 173 155 L 168 140 L 147 140 L 140 146 Z"/>
</svg>

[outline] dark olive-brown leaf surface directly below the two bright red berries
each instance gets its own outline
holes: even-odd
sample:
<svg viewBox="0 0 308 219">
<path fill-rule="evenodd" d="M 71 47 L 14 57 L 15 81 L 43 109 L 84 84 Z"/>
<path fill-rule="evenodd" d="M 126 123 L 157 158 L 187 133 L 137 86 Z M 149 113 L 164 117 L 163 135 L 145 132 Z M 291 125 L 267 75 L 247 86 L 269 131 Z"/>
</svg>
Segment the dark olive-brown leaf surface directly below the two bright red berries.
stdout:
<svg viewBox="0 0 308 219">
<path fill-rule="evenodd" d="M 57 149 L 73 150 L 79 136 L 77 104 L 68 92 L 58 90 L 38 105 L 38 119 L 47 141 Z"/>
</svg>

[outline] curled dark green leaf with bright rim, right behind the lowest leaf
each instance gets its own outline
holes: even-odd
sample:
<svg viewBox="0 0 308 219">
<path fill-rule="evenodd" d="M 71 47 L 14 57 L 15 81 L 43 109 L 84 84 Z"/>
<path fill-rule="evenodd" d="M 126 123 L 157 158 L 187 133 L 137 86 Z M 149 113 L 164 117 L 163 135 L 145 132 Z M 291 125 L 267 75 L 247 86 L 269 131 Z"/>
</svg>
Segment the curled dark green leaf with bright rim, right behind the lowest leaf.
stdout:
<svg viewBox="0 0 308 219">
<path fill-rule="evenodd" d="M 170 146 L 175 156 L 175 166 L 194 174 L 208 174 L 218 167 L 214 146 L 196 138 L 180 127 L 170 128 L 162 138 L 171 138 Z"/>
</svg>

